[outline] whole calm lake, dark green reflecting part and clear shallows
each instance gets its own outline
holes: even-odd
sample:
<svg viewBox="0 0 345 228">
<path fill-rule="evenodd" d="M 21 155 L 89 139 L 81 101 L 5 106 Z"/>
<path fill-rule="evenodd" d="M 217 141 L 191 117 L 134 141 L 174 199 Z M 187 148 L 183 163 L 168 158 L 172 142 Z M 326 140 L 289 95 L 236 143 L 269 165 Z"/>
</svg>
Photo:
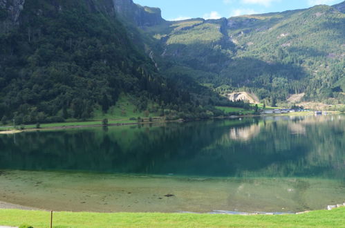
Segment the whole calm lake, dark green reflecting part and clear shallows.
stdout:
<svg viewBox="0 0 345 228">
<path fill-rule="evenodd" d="M 345 202 L 345 116 L 0 135 L 0 169 L 0 200 L 41 209 L 323 209 Z"/>
</svg>

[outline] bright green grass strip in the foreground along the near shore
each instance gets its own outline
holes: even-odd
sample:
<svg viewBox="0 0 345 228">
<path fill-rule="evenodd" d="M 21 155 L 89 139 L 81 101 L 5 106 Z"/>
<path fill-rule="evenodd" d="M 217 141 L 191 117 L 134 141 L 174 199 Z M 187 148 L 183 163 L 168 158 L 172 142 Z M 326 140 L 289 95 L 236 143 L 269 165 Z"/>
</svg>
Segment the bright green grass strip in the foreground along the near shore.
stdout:
<svg viewBox="0 0 345 228">
<path fill-rule="evenodd" d="M 50 212 L 0 210 L 0 225 L 49 227 Z M 345 227 L 345 207 L 300 215 L 55 212 L 53 227 Z"/>
</svg>

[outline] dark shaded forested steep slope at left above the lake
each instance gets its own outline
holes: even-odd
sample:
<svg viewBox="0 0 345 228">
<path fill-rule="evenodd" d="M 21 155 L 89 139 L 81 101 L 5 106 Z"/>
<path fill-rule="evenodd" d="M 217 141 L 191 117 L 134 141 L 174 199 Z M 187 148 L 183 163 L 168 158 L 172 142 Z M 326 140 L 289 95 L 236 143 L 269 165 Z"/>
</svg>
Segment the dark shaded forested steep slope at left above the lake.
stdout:
<svg viewBox="0 0 345 228">
<path fill-rule="evenodd" d="M 3 123 L 12 118 L 19 124 L 86 120 L 97 109 L 106 113 L 121 93 L 135 98 L 139 112 L 154 104 L 157 115 L 214 114 L 199 106 L 186 79 L 158 73 L 141 46 L 133 44 L 133 32 L 140 32 L 123 26 L 113 3 L 0 1 Z M 198 91 L 213 94 L 207 88 Z"/>
</svg>

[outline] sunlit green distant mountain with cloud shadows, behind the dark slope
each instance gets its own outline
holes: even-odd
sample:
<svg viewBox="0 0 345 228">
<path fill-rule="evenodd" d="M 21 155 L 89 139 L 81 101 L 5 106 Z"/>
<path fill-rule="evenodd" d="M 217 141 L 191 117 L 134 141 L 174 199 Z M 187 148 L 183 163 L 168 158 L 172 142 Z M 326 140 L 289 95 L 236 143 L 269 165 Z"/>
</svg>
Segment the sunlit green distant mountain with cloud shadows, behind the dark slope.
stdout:
<svg viewBox="0 0 345 228">
<path fill-rule="evenodd" d="M 345 103 L 344 6 L 143 29 L 162 47 L 155 57 L 170 77 L 191 77 L 223 95 L 248 91 L 268 104 L 301 93 L 305 100 L 337 104 Z"/>
</svg>

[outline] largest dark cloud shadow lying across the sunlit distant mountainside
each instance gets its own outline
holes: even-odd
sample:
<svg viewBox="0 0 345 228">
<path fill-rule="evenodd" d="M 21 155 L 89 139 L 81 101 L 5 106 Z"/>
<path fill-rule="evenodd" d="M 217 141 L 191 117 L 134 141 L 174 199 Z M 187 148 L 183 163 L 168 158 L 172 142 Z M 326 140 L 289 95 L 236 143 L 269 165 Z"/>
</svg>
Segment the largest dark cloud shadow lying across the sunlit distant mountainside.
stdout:
<svg viewBox="0 0 345 228">
<path fill-rule="evenodd" d="M 294 53 L 304 51 L 292 50 Z M 165 65 L 170 75 L 185 75 L 198 79 L 200 83 L 215 86 L 227 84 L 257 88 L 269 86 L 275 77 L 289 81 L 307 76 L 304 68 L 298 65 L 299 59 L 289 58 L 289 53 L 284 53 L 286 56 L 277 61 L 263 61 L 253 57 L 234 58 L 234 53 L 234 48 L 223 49 L 221 44 L 172 44 L 167 46 L 163 57 L 174 62 Z M 310 48 L 310 55 L 324 54 Z"/>
</svg>

